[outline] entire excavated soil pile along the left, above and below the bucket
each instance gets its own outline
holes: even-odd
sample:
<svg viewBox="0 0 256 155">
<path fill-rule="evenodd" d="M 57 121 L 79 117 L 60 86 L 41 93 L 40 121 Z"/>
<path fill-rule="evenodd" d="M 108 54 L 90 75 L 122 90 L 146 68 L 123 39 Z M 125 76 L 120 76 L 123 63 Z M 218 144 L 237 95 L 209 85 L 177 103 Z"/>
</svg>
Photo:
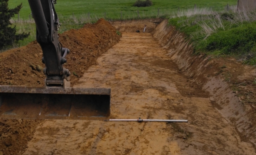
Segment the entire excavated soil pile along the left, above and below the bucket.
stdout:
<svg viewBox="0 0 256 155">
<path fill-rule="evenodd" d="M 60 42 L 71 51 L 65 64 L 72 74 L 71 84 L 77 83 L 83 72 L 96 63 L 97 57 L 118 43 L 120 38 L 121 35 L 116 33 L 116 28 L 104 19 L 99 19 L 95 24 L 86 24 L 81 29 L 71 29 L 60 34 Z M 0 84 L 43 86 L 45 75 L 42 71 L 42 55 L 41 47 L 36 41 L 25 47 L 0 53 Z M 0 155 L 22 154 L 40 122 L 0 119 Z"/>
</svg>

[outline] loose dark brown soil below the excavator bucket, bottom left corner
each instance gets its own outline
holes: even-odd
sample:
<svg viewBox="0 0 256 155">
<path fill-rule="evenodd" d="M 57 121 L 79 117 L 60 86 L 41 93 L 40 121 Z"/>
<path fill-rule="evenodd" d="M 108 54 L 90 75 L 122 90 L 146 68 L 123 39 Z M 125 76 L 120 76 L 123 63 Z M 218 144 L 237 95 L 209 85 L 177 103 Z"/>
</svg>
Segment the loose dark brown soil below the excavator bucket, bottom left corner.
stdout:
<svg viewBox="0 0 256 155">
<path fill-rule="evenodd" d="M 33 138 L 36 126 L 41 120 L 1 120 L 0 155 L 18 155 L 26 150 L 27 143 Z"/>
</svg>

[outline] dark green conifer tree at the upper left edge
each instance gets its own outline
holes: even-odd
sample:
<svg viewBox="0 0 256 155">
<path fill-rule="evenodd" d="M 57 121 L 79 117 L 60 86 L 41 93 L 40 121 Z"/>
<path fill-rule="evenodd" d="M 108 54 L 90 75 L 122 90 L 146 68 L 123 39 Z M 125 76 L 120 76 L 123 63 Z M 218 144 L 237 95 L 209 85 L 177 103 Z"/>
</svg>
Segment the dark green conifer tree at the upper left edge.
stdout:
<svg viewBox="0 0 256 155">
<path fill-rule="evenodd" d="M 11 27 L 10 19 L 14 14 L 18 14 L 22 8 L 22 3 L 14 9 L 8 8 L 9 0 L 0 0 L 0 49 L 8 45 L 12 45 L 19 40 L 23 40 L 29 36 L 29 33 L 16 34 L 16 26 Z"/>
</svg>

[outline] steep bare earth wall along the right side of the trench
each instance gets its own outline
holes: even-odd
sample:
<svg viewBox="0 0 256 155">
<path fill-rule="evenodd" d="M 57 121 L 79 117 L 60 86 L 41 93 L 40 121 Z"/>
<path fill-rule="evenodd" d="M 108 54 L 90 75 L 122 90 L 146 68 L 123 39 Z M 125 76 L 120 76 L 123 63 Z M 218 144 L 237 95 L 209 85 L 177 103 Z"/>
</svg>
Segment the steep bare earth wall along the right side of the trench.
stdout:
<svg viewBox="0 0 256 155">
<path fill-rule="evenodd" d="M 193 55 L 193 47 L 185 40 L 185 35 L 177 31 L 174 26 L 168 26 L 168 20 L 161 22 L 152 31 L 152 36 L 167 50 L 171 60 L 178 65 L 185 76 L 192 78 L 194 83 L 209 92 L 211 103 L 236 127 L 241 140 L 250 141 L 255 146 L 255 119 L 235 96 L 229 84 L 218 74 L 218 69 L 223 64 L 209 60 L 205 55 Z"/>
</svg>

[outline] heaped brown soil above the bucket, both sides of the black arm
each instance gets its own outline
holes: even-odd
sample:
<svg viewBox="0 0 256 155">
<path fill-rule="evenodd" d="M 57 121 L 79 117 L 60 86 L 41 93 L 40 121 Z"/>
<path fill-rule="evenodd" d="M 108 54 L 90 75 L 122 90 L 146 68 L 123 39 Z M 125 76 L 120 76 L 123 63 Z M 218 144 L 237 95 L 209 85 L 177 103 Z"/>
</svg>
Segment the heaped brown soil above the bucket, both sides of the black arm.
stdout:
<svg viewBox="0 0 256 155">
<path fill-rule="evenodd" d="M 71 53 L 67 55 L 65 67 L 71 72 L 71 84 L 77 83 L 79 77 L 97 57 L 118 43 L 120 35 L 104 19 L 95 24 L 86 24 L 81 29 L 71 29 L 60 34 L 60 42 Z M 25 47 L 0 53 L 0 84 L 17 86 L 43 86 L 42 50 L 33 41 Z"/>
</svg>

